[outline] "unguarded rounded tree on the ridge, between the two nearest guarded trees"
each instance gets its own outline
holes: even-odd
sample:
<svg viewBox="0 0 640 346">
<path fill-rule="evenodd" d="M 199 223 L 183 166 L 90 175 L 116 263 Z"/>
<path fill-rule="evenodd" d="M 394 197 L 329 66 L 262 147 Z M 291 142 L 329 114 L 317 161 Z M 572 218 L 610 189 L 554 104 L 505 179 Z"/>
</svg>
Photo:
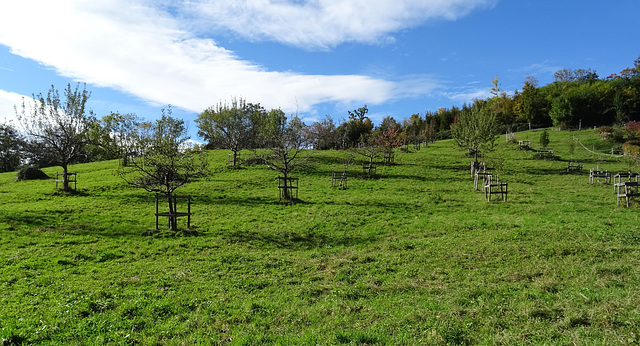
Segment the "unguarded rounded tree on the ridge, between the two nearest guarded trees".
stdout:
<svg viewBox="0 0 640 346">
<path fill-rule="evenodd" d="M 231 105 L 218 103 L 198 115 L 198 135 L 209 142 L 209 147 L 231 150 L 233 167 L 238 162 L 238 153 L 251 149 L 257 135 L 256 120 L 264 115 L 260 105 L 234 99 Z"/>
</svg>

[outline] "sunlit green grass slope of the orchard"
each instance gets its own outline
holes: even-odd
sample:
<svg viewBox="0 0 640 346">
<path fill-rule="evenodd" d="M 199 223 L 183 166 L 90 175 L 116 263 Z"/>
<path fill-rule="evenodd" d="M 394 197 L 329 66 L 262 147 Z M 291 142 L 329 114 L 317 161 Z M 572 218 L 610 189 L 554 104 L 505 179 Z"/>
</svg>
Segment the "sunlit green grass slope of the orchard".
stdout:
<svg viewBox="0 0 640 346">
<path fill-rule="evenodd" d="M 213 151 L 178 190 L 194 215 L 177 235 L 150 232 L 153 195 L 117 161 L 73 166 L 72 195 L 0 174 L 0 345 L 636 344 L 640 206 L 617 207 L 588 171 L 638 169 L 571 155 L 572 136 L 611 148 L 551 131 L 559 159 L 545 161 L 500 138 L 486 161 L 507 203 L 473 189 L 451 141 L 397 152 L 379 179 L 353 165 L 346 190 L 331 188 L 346 153 L 318 152 L 294 205 L 276 173 Z M 570 158 L 586 172 L 566 173 Z"/>
</svg>

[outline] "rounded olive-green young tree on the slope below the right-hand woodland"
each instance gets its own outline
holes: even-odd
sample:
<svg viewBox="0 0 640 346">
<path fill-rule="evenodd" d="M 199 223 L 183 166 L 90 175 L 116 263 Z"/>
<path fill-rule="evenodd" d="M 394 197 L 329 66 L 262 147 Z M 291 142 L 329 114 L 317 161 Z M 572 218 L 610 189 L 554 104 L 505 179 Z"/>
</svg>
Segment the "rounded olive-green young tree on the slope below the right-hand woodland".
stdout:
<svg viewBox="0 0 640 346">
<path fill-rule="evenodd" d="M 493 150 L 497 135 L 496 114 L 482 101 L 463 110 L 451 126 L 451 137 L 473 155 L 474 162 L 482 152 Z"/>
</svg>

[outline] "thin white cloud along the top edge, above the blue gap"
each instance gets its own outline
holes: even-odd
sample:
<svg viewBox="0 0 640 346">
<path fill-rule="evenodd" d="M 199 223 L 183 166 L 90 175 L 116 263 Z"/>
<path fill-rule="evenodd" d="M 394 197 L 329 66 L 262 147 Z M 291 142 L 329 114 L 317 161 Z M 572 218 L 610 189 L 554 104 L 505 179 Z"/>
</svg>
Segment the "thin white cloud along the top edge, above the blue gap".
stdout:
<svg viewBox="0 0 640 346">
<path fill-rule="evenodd" d="M 309 49 L 375 43 L 434 19 L 455 20 L 497 0 L 194 0 L 185 12 L 203 30 Z"/>
</svg>

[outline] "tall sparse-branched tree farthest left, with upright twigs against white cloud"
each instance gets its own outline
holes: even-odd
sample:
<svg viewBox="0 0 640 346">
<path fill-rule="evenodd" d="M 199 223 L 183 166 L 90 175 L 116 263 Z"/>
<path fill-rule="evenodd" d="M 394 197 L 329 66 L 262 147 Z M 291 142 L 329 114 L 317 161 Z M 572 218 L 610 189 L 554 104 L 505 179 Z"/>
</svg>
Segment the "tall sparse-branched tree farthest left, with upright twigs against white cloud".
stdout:
<svg viewBox="0 0 640 346">
<path fill-rule="evenodd" d="M 85 106 L 91 96 L 85 87 L 80 90 L 67 84 L 64 98 L 51 86 L 47 96 L 33 95 L 33 107 L 27 111 L 22 103 L 22 112 L 16 115 L 29 139 L 52 163 L 62 167 L 62 188 L 69 191 L 68 166 L 81 159 L 87 144 L 87 131 L 93 119 Z"/>
</svg>

